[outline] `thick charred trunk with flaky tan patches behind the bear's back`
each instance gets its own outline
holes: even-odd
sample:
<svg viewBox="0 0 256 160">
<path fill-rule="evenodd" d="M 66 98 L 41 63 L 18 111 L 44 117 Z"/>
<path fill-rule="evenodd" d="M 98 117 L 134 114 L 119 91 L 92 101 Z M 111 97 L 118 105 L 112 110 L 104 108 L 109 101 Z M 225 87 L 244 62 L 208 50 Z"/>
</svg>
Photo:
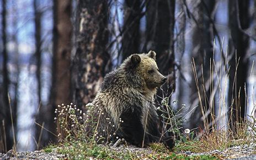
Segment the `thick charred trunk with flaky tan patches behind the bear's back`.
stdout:
<svg viewBox="0 0 256 160">
<path fill-rule="evenodd" d="M 79 106 L 92 102 L 110 70 L 108 1 L 78 1 L 76 53 L 72 60 L 73 100 Z"/>
</svg>

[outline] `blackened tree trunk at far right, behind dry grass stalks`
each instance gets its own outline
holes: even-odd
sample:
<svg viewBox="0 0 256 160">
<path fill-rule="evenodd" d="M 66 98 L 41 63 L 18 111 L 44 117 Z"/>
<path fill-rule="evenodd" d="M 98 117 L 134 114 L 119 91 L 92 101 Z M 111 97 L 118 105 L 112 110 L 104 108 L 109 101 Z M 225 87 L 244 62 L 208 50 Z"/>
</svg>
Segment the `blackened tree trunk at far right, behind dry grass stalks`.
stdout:
<svg viewBox="0 0 256 160">
<path fill-rule="evenodd" d="M 229 124 L 236 131 L 238 123 L 243 123 L 246 114 L 245 85 L 247 80 L 248 59 L 246 59 L 249 37 L 241 30 L 249 27 L 249 0 L 228 1 L 228 16 L 231 38 L 229 41 L 232 55 L 230 60 L 230 82 L 228 91 Z M 237 70 L 236 70 L 236 66 Z"/>
</svg>

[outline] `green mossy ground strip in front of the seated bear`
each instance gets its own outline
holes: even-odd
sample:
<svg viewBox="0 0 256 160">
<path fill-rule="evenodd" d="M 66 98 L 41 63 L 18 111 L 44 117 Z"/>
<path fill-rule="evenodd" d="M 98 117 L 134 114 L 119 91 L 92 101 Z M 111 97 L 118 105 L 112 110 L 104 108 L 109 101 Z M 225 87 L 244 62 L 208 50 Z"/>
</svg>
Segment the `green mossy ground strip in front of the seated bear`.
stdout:
<svg viewBox="0 0 256 160">
<path fill-rule="evenodd" d="M 192 145 L 193 143 L 186 143 L 183 147 L 182 145 L 177 145 L 173 151 L 167 150 L 162 144 L 151 144 L 149 148 L 137 148 L 137 150 L 136 148 L 131 148 L 130 150 L 126 146 L 111 148 L 74 141 L 56 146 L 47 146 L 44 148 L 44 151 L 58 152 L 66 155 L 68 159 L 218 159 L 216 156 L 211 155 L 188 156 L 180 153 L 182 151 L 194 151 Z"/>
</svg>

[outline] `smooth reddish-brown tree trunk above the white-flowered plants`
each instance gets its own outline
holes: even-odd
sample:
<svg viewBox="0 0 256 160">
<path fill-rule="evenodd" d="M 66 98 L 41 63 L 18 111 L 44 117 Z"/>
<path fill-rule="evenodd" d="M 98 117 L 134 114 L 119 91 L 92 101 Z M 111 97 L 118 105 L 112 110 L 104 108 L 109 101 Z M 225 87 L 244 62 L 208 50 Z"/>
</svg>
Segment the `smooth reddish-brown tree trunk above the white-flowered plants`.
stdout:
<svg viewBox="0 0 256 160">
<path fill-rule="evenodd" d="M 71 57 L 71 37 L 72 37 L 72 1 L 71 0 L 59 0 L 57 3 L 57 31 L 54 36 L 54 45 L 57 46 L 54 50 L 56 54 L 56 81 L 55 81 L 55 93 L 56 101 L 55 105 L 61 103 L 71 102 L 70 93 L 70 57 Z"/>
</svg>

